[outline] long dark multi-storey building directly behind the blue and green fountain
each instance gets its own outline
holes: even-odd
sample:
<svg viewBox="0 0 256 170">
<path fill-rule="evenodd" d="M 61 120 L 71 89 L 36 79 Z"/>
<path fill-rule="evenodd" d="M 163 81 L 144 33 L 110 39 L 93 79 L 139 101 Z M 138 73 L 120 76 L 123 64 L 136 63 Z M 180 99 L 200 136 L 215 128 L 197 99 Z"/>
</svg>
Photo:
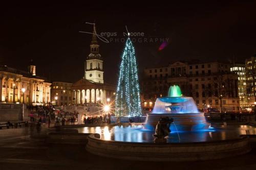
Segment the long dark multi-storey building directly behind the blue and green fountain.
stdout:
<svg viewBox="0 0 256 170">
<path fill-rule="evenodd" d="M 192 96 L 199 109 L 238 111 L 238 75 L 230 64 L 220 62 L 174 62 L 144 69 L 142 106 L 153 108 L 156 98 L 166 96 L 170 85 L 179 85 L 184 96 Z"/>
</svg>

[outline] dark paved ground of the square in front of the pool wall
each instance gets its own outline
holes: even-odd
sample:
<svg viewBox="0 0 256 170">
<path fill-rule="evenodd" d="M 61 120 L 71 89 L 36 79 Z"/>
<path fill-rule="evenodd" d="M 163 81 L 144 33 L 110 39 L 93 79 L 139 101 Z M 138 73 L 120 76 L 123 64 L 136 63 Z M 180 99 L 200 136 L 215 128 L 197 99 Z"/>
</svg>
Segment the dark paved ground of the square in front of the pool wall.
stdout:
<svg viewBox="0 0 256 170">
<path fill-rule="evenodd" d="M 0 169 L 255 169 L 256 145 L 246 155 L 196 162 L 143 162 L 99 157 L 84 145 L 49 145 L 48 128 L 0 130 Z M 32 136 L 32 137 L 30 137 Z"/>
</svg>

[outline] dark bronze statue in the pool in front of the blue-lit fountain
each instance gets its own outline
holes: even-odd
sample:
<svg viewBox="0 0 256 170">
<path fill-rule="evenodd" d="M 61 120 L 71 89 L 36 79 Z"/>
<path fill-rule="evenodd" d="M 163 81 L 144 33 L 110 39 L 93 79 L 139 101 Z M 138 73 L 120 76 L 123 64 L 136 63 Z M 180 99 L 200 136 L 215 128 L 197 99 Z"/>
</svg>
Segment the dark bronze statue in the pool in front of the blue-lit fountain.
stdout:
<svg viewBox="0 0 256 170">
<path fill-rule="evenodd" d="M 173 118 L 161 117 L 156 126 L 156 132 L 154 136 L 155 140 L 164 140 L 170 133 L 170 124 L 174 122 Z"/>
</svg>

